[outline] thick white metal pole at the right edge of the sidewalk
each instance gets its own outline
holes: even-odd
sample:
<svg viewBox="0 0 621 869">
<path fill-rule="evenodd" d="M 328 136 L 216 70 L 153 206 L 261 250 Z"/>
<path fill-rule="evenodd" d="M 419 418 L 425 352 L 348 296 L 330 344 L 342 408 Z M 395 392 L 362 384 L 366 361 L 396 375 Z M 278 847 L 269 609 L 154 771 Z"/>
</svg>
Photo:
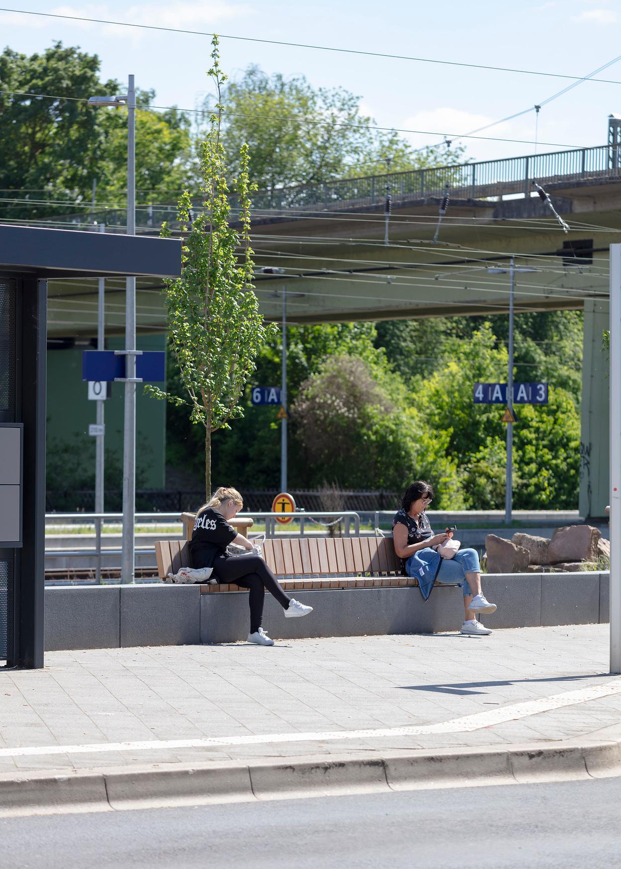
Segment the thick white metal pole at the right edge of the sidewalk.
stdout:
<svg viewBox="0 0 621 869">
<path fill-rule="evenodd" d="M 611 673 L 621 673 L 621 244 L 611 244 Z"/>
</svg>

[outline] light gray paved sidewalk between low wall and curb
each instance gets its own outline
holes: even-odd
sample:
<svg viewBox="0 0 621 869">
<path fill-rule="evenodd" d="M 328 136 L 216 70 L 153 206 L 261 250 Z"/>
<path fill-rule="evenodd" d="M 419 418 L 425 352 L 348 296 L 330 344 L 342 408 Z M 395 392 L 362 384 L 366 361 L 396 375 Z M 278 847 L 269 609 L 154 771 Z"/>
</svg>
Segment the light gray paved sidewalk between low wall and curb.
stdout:
<svg viewBox="0 0 621 869">
<path fill-rule="evenodd" d="M 621 739 L 621 680 L 607 675 L 605 625 L 520 628 L 486 638 L 56 652 L 46 662 L 41 671 L 0 673 L 0 773 Z M 578 701 L 560 706 L 546 700 L 602 687 L 610 693 L 596 699 L 577 694 Z M 532 700 L 544 711 L 515 706 Z M 508 717 L 515 712 L 517 720 L 494 723 L 512 706 Z M 471 729 L 459 724 L 465 716 L 475 716 Z M 451 725 L 438 733 L 334 736 L 454 720 L 453 732 Z M 309 735 L 287 741 L 297 733 Z M 212 737 L 225 744 L 107 749 Z M 226 744 L 235 738 L 240 744 Z M 73 748 L 58 753 L 58 746 Z M 19 751 L 32 747 L 40 753 Z"/>
</svg>

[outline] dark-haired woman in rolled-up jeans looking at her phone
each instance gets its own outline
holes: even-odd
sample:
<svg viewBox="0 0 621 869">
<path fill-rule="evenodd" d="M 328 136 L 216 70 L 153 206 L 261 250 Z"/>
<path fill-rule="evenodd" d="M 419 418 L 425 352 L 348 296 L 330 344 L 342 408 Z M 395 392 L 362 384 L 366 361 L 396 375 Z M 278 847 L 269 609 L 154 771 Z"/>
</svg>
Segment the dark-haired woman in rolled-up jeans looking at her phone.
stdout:
<svg viewBox="0 0 621 869">
<path fill-rule="evenodd" d="M 394 551 L 401 559 L 406 576 L 418 575 L 410 572 L 413 568 L 413 555 L 425 559 L 425 550 L 435 556 L 432 547 L 444 543 L 453 533 L 433 534 L 426 514 L 426 508 L 433 499 L 433 488 L 425 481 L 413 483 L 406 489 L 401 509 L 393 519 Z M 435 556 L 437 557 L 437 556 Z M 483 636 L 491 634 L 489 627 L 477 621 L 478 613 L 494 613 L 496 604 L 486 600 L 481 591 L 481 568 L 476 549 L 460 549 L 453 558 L 440 561 L 437 579 L 440 582 L 463 582 L 464 607 L 466 618 L 461 626 L 462 634 Z"/>
</svg>

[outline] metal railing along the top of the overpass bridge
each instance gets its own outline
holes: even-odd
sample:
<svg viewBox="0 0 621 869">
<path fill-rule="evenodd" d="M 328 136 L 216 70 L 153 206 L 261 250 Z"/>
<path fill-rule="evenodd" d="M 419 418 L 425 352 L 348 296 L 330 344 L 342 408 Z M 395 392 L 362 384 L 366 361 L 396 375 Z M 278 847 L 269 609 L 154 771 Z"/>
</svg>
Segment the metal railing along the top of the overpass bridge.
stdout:
<svg viewBox="0 0 621 869">
<path fill-rule="evenodd" d="M 254 217 L 261 217 L 261 210 L 270 212 L 347 210 L 373 206 L 384 202 L 386 182 L 390 184 L 393 204 L 413 199 L 440 197 L 445 185 L 456 199 L 486 199 L 494 196 L 524 194 L 530 196 L 532 181 L 545 186 L 557 182 L 615 180 L 621 176 L 621 160 L 618 148 L 613 145 L 598 145 L 594 148 L 579 148 L 566 151 L 551 151 L 546 154 L 531 154 L 521 157 L 506 157 L 503 160 L 486 160 L 481 163 L 460 163 L 438 166 L 433 169 L 410 169 L 381 175 L 342 178 L 318 184 L 298 184 L 293 187 L 257 190 L 253 196 Z M 237 209 L 235 196 L 231 196 L 232 208 Z M 201 208 L 201 199 L 195 199 L 195 209 Z M 157 229 L 163 221 L 175 226 L 175 203 L 162 205 L 144 202 L 136 210 L 136 226 L 142 229 Z M 83 214 L 54 218 L 56 222 L 83 225 Z M 99 210 L 88 221 L 106 223 L 107 227 L 125 227 L 124 209 Z"/>
</svg>

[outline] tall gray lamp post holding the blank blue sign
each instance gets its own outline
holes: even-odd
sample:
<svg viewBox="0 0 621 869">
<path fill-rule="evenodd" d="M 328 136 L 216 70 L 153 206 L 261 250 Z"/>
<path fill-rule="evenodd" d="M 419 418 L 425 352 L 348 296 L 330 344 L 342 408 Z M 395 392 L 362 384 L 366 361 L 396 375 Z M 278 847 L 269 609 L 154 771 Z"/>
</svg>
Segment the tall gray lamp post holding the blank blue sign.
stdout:
<svg viewBox="0 0 621 869">
<path fill-rule="evenodd" d="M 135 86 L 127 96 L 127 234 L 135 235 Z M 123 519 L 121 582 L 134 582 L 135 521 L 135 277 L 125 289 L 125 415 L 123 421 Z"/>
</svg>

